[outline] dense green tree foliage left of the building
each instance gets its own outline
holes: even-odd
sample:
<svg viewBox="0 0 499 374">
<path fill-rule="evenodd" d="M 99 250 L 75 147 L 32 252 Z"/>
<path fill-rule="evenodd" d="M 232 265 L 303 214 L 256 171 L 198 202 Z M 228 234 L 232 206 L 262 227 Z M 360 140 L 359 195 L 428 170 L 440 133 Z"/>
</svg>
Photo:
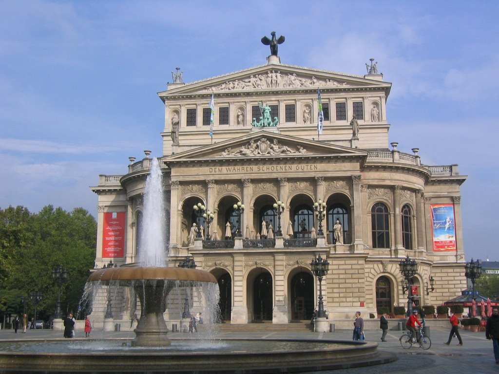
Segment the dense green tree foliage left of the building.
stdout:
<svg viewBox="0 0 499 374">
<path fill-rule="evenodd" d="M 38 213 L 22 206 L 0 209 L 0 313 L 22 312 L 20 297 L 39 292 L 38 315 L 52 315 L 59 290 L 52 270 L 58 265 L 69 271 L 61 287 L 61 312 L 76 312 L 94 265 L 96 235 L 97 223 L 83 208 L 67 212 L 47 205 Z M 16 300 L 15 308 L 11 304 Z M 26 310 L 33 312 L 31 302 Z"/>
</svg>

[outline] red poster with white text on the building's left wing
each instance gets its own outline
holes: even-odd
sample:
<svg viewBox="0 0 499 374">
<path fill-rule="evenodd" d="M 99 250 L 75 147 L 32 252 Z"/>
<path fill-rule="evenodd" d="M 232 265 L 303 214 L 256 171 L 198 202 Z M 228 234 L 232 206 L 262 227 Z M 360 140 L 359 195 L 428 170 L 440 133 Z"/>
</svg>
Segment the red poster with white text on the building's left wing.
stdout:
<svg viewBox="0 0 499 374">
<path fill-rule="evenodd" d="M 102 257 L 125 256 L 125 212 L 104 213 Z"/>
</svg>

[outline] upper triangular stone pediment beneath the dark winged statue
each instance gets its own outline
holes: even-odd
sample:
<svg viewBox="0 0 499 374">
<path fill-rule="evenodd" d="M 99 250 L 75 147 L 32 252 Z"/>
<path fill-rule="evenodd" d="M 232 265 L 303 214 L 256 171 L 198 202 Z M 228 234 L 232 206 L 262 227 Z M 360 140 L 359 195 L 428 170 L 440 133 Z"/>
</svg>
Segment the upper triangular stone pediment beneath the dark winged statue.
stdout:
<svg viewBox="0 0 499 374">
<path fill-rule="evenodd" d="M 303 91 L 327 89 L 348 89 L 360 87 L 388 88 L 390 83 L 366 79 L 360 75 L 338 73 L 320 69 L 310 69 L 283 64 L 270 64 L 253 67 L 235 73 L 176 85 L 159 92 L 160 97 L 175 97 L 186 94 Z"/>
</svg>

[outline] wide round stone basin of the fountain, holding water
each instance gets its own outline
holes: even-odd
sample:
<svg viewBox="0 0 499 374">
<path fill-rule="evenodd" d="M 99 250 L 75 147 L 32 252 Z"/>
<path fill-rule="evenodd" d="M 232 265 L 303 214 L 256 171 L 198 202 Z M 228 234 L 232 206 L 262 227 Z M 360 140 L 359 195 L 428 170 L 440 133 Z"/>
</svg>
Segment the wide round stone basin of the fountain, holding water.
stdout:
<svg viewBox="0 0 499 374">
<path fill-rule="evenodd" d="M 378 353 L 378 345 L 370 342 L 313 339 L 172 339 L 172 342 L 167 348 L 146 349 L 129 347 L 128 339 L 4 341 L 0 342 L 0 367 L 3 373 L 21 370 L 286 373 L 351 368 L 395 360 L 393 355 Z M 121 347 L 123 343 L 127 347 Z"/>
</svg>

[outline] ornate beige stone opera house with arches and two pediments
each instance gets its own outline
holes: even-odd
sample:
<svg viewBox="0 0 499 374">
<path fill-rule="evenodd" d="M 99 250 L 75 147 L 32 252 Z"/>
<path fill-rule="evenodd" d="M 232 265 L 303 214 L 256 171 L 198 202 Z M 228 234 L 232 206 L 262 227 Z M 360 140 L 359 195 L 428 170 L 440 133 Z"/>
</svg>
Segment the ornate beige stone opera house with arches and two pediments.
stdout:
<svg viewBox="0 0 499 374">
<path fill-rule="evenodd" d="M 223 320 L 309 320 L 319 292 L 310 262 L 318 255 L 330 263 L 322 294 L 333 320 L 407 305 L 399 269 L 406 256 L 418 264 L 416 304 L 440 305 L 466 288 L 466 177 L 457 165 L 425 165 L 417 148 L 407 154 L 389 144 L 391 83 L 373 60 L 366 65 L 365 75 L 344 74 L 270 55 L 264 65 L 192 83 L 177 69 L 159 92 L 165 251 L 170 266 L 189 255 L 215 275 Z M 142 160 L 130 158 L 126 174 L 101 175 L 91 187 L 98 195 L 96 269 L 134 262 L 140 253 L 152 160 L 144 152 Z M 209 227 L 198 221 L 198 203 L 213 214 Z M 193 223 L 204 227 L 204 238 L 191 238 Z M 130 313 L 114 318 L 129 320 Z"/>
</svg>

